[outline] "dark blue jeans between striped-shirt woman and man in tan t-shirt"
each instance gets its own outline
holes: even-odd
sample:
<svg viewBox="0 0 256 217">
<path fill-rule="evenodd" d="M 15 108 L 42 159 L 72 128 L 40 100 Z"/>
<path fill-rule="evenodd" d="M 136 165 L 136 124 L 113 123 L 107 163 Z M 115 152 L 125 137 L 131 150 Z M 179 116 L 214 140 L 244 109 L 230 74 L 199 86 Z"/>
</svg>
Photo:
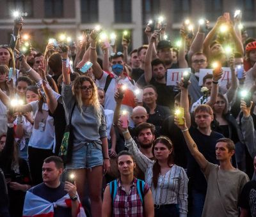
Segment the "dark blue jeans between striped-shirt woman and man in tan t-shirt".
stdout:
<svg viewBox="0 0 256 217">
<path fill-rule="evenodd" d="M 202 216 L 204 209 L 205 194 L 196 190 L 192 190 L 193 204 L 191 211 L 188 213 L 188 217 L 200 217 Z"/>
</svg>

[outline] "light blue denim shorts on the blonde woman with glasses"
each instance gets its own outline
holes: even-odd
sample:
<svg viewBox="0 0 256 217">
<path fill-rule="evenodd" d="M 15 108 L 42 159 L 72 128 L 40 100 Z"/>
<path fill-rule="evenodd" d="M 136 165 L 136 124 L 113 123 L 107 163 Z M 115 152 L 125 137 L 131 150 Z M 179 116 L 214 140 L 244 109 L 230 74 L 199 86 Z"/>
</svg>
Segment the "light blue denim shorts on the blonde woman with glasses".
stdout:
<svg viewBox="0 0 256 217">
<path fill-rule="evenodd" d="M 92 142 L 86 142 L 80 149 L 73 151 L 72 161 L 66 165 L 66 169 L 92 168 L 102 165 L 102 151 Z"/>
</svg>

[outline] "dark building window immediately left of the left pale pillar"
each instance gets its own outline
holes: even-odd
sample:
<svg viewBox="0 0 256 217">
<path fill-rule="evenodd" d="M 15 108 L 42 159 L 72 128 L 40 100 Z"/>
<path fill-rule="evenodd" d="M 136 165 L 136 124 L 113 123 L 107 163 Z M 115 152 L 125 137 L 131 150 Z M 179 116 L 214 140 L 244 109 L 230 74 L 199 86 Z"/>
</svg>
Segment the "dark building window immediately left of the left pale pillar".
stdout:
<svg viewBox="0 0 256 217">
<path fill-rule="evenodd" d="M 81 0 L 81 22 L 98 22 L 98 1 Z"/>
</svg>

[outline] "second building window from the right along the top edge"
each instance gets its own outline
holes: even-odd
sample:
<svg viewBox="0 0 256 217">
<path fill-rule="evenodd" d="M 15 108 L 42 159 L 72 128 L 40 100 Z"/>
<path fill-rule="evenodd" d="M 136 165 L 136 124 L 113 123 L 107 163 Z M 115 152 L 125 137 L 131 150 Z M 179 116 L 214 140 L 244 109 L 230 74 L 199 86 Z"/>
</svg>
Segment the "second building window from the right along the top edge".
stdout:
<svg viewBox="0 0 256 217">
<path fill-rule="evenodd" d="M 205 0 L 205 19 L 217 20 L 223 14 L 222 0 Z"/>
</svg>

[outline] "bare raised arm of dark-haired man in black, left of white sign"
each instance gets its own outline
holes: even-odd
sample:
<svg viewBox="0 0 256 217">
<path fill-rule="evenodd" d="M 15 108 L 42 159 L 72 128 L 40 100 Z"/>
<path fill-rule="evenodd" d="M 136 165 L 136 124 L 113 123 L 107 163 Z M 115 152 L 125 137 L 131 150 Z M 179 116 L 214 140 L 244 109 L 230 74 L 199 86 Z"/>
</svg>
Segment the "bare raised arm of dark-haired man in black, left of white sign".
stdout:
<svg viewBox="0 0 256 217">
<path fill-rule="evenodd" d="M 154 49 L 154 43 L 156 43 L 157 36 L 159 33 L 154 32 L 150 38 L 150 41 L 148 43 L 148 49 L 145 56 L 145 80 L 147 84 L 149 84 L 150 80 L 152 79 L 152 67 L 151 67 L 151 61 L 152 61 L 152 50 Z"/>
</svg>

